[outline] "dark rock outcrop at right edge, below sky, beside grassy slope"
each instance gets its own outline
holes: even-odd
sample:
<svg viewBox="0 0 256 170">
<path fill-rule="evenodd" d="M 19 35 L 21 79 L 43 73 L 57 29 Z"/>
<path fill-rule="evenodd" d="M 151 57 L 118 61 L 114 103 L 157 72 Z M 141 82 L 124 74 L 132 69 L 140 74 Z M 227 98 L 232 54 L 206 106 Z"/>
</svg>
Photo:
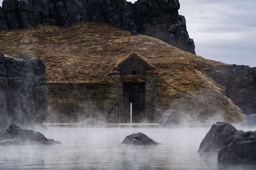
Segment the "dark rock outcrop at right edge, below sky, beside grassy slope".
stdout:
<svg viewBox="0 0 256 170">
<path fill-rule="evenodd" d="M 256 68 L 249 66 L 215 66 L 207 74 L 226 88 L 226 96 L 245 114 L 256 113 Z"/>
</svg>

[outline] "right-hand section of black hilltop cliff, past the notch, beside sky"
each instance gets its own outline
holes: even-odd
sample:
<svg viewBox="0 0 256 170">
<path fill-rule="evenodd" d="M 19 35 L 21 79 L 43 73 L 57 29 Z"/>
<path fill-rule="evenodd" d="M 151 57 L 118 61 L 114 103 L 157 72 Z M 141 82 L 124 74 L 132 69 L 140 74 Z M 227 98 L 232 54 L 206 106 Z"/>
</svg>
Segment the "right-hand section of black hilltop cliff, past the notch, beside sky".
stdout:
<svg viewBox="0 0 256 170">
<path fill-rule="evenodd" d="M 196 54 L 187 33 L 185 17 L 179 15 L 179 1 L 139 0 L 134 3 L 138 32 L 157 37 L 182 50 Z"/>
</svg>

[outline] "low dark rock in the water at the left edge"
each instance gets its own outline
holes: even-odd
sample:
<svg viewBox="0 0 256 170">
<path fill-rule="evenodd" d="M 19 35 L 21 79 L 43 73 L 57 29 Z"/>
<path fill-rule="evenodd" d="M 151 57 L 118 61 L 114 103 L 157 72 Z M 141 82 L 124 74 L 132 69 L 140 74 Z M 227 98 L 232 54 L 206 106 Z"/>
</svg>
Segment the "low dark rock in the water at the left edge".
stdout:
<svg viewBox="0 0 256 170">
<path fill-rule="evenodd" d="M 20 145 L 20 144 L 60 144 L 60 142 L 47 139 L 42 133 L 21 129 L 19 126 L 11 124 L 8 129 L 0 132 L 0 145 Z"/>
</svg>

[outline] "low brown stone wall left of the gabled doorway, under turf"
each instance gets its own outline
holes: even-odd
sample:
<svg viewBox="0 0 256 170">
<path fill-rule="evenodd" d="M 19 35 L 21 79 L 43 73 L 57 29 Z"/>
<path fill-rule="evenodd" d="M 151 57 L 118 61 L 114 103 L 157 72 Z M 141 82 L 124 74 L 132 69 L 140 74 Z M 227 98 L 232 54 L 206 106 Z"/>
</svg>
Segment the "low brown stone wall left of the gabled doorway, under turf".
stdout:
<svg viewBox="0 0 256 170">
<path fill-rule="evenodd" d="M 93 117 L 117 122 L 117 92 L 108 84 L 48 84 L 49 113 L 46 122 L 83 122 Z"/>
</svg>

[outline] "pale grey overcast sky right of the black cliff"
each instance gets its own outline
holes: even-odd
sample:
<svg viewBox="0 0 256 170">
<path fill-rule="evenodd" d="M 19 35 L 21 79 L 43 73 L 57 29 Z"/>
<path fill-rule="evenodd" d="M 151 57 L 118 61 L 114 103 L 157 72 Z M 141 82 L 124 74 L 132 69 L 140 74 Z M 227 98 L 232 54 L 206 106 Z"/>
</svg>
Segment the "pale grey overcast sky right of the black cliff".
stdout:
<svg viewBox="0 0 256 170">
<path fill-rule="evenodd" d="M 255 0 L 179 2 L 179 13 L 187 19 L 198 55 L 227 64 L 256 66 Z"/>
</svg>

